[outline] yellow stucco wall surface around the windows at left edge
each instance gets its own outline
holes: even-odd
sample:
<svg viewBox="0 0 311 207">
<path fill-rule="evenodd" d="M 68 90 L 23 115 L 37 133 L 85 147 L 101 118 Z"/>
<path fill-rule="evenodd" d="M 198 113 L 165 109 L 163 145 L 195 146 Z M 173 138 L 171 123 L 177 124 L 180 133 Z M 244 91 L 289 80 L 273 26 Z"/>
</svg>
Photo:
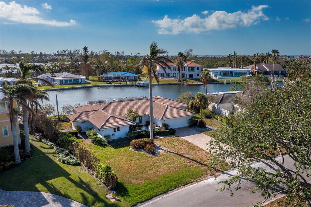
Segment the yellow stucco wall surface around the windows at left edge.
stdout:
<svg viewBox="0 0 311 207">
<path fill-rule="evenodd" d="M 0 102 L 2 102 L 0 100 Z M 14 101 L 14 106 L 16 106 L 16 101 Z M 9 136 L 3 137 L 2 127 L 7 126 Z M 17 137 L 18 137 L 18 143 L 21 143 L 21 137 L 19 132 L 19 125 L 17 123 Z M 11 123 L 10 123 L 10 117 L 8 116 L 8 113 L 0 113 L 0 146 L 6 146 L 6 145 L 12 145 L 13 144 L 13 136 L 12 136 L 12 129 L 11 129 Z"/>
</svg>

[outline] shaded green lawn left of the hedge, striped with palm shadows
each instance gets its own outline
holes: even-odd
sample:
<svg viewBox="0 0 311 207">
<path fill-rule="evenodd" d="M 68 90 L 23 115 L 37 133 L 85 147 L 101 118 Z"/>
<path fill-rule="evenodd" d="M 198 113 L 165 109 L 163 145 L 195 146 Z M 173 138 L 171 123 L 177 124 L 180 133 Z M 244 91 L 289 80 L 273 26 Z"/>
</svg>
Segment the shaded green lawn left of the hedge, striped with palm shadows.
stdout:
<svg viewBox="0 0 311 207">
<path fill-rule="evenodd" d="M 83 167 L 62 164 L 48 145 L 34 138 L 30 142 L 34 154 L 20 166 L 1 172 L 2 189 L 49 192 L 87 206 L 129 206 L 122 197 L 121 202 L 110 202 L 105 188 Z"/>
</svg>

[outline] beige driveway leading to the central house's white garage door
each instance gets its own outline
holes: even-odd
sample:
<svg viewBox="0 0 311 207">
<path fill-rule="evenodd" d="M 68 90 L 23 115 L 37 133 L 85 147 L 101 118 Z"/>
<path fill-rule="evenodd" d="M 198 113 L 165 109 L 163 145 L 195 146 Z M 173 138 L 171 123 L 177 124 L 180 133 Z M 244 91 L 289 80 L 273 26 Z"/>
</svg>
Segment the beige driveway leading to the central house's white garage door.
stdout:
<svg viewBox="0 0 311 207">
<path fill-rule="evenodd" d="M 207 143 L 209 143 L 211 139 L 213 139 L 212 137 L 207 136 L 206 134 L 203 134 L 201 132 L 198 132 L 197 130 L 194 130 L 190 127 L 183 127 L 176 129 L 175 136 L 179 136 L 187 140 L 188 142 L 191 142 L 194 145 L 197 145 L 198 147 L 207 151 L 208 151 Z"/>
</svg>

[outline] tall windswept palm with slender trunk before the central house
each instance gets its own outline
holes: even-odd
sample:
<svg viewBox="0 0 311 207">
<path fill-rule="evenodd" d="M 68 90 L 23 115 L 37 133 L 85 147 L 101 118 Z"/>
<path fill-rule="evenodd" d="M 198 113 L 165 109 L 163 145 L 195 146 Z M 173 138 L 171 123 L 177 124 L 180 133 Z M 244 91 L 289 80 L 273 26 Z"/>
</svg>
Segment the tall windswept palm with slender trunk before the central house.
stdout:
<svg viewBox="0 0 311 207">
<path fill-rule="evenodd" d="M 155 68 L 155 64 L 160 65 L 166 74 L 166 68 L 169 66 L 166 62 L 172 63 L 172 61 L 165 57 L 159 56 L 162 54 L 167 54 L 167 50 L 158 48 L 158 44 L 156 42 L 151 42 L 149 47 L 149 55 L 142 58 L 143 64 L 146 66 L 143 68 L 143 73 L 149 76 L 149 99 L 150 99 L 150 138 L 153 137 L 153 105 L 152 105 L 152 78 L 156 79 L 156 82 L 159 83 L 159 78 L 157 75 L 157 70 Z"/>
</svg>

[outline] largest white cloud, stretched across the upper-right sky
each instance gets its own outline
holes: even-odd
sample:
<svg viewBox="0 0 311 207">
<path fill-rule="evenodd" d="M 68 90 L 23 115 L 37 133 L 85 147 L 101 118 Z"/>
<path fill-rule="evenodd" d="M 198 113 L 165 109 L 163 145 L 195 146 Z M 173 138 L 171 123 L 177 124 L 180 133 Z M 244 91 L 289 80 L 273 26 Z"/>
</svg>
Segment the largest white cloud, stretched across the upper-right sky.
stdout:
<svg viewBox="0 0 311 207">
<path fill-rule="evenodd" d="M 160 27 L 159 34 L 180 34 L 182 32 L 200 33 L 210 30 L 225 30 L 237 27 L 248 27 L 258 24 L 260 20 L 268 20 L 269 18 L 262 12 L 267 5 L 258 7 L 252 6 L 247 12 L 237 11 L 227 13 L 225 11 L 216 11 L 211 15 L 201 18 L 194 14 L 185 19 L 171 19 L 165 15 L 163 19 L 152 20 Z"/>
</svg>

